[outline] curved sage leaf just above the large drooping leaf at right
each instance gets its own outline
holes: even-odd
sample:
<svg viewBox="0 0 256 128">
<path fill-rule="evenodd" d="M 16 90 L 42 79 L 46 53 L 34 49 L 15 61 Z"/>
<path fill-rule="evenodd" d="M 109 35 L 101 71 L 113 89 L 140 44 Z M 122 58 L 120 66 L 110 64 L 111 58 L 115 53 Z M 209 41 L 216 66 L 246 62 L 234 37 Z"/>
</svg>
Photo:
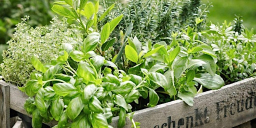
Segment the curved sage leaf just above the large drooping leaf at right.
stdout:
<svg viewBox="0 0 256 128">
<path fill-rule="evenodd" d="M 197 57 L 197 59 L 204 61 L 205 63 L 202 63 L 202 66 L 205 68 L 205 70 L 211 74 L 214 75 L 216 72 L 216 64 L 214 62 L 214 59 L 208 55 L 208 54 L 203 54 Z"/>
</svg>

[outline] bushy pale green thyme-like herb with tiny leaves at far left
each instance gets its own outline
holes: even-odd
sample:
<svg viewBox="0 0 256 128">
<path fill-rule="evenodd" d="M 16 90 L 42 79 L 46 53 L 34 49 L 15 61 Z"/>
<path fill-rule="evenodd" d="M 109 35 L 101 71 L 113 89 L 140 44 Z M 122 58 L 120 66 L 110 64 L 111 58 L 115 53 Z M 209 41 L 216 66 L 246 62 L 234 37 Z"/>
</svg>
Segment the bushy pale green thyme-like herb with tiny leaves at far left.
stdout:
<svg viewBox="0 0 256 128">
<path fill-rule="evenodd" d="M 34 69 L 31 64 L 33 55 L 42 63 L 48 63 L 58 54 L 62 43 L 81 41 L 80 34 L 74 28 L 68 28 L 65 18 L 59 21 L 55 17 L 50 26 L 35 28 L 27 24 L 28 20 L 28 16 L 25 16 L 16 25 L 13 37 L 7 41 L 9 48 L 2 53 L 0 73 L 4 80 L 18 85 L 29 80 L 30 72 Z"/>
</svg>

